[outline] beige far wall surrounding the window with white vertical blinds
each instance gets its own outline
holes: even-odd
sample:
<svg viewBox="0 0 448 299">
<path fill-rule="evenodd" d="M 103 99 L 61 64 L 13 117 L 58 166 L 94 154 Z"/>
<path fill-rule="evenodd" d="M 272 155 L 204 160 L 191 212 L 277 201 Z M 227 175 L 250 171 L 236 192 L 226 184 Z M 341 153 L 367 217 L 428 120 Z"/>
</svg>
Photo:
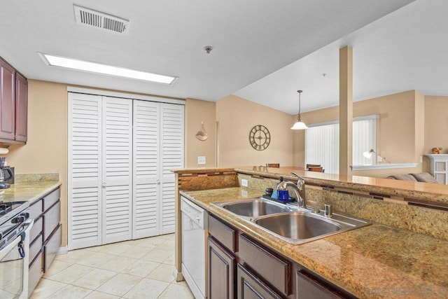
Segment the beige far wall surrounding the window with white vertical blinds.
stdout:
<svg viewBox="0 0 448 299">
<path fill-rule="evenodd" d="M 393 163 L 419 163 L 423 142 L 423 110 L 423 95 L 415 90 L 353 103 L 353 117 L 379 116 L 377 151 Z M 337 119 L 337 106 L 302 113 L 302 120 L 307 124 Z M 295 166 L 304 166 L 304 132 L 295 132 L 294 157 Z M 353 175 L 388 176 L 409 172 L 421 172 L 421 164 L 412 169 L 357 171 Z"/>
</svg>

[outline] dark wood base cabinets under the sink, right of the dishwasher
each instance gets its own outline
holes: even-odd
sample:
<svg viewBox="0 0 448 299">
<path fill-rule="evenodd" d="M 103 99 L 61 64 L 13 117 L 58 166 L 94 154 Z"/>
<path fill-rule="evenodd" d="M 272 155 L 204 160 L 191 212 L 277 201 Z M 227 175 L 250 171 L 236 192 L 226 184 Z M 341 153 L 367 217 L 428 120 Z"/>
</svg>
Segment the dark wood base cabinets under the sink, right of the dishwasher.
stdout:
<svg viewBox="0 0 448 299">
<path fill-rule="evenodd" d="M 356 298 L 318 274 L 209 216 L 209 299 Z"/>
</svg>

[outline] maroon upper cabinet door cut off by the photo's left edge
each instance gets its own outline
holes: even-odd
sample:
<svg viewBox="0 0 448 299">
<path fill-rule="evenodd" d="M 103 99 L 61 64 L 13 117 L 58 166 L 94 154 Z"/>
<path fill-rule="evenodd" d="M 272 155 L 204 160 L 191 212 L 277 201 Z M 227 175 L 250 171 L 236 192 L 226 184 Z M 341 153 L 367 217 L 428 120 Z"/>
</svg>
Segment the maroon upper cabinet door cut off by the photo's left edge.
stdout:
<svg viewBox="0 0 448 299">
<path fill-rule="evenodd" d="M 0 138 L 14 140 L 15 70 L 0 59 Z"/>
</svg>

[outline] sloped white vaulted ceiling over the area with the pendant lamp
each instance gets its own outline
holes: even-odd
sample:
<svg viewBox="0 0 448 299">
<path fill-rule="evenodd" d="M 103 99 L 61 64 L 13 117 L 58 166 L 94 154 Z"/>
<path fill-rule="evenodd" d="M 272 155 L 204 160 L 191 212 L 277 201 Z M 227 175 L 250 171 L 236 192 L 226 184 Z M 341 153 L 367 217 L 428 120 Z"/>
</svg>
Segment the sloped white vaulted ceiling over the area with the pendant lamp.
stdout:
<svg viewBox="0 0 448 299">
<path fill-rule="evenodd" d="M 353 48 L 353 101 L 419 90 L 448 95 L 448 1 L 417 0 L 234 92 L 297 113 L 339 103 L 339 48 Z M 323 74 L 326 74 L 323 76 Z"/>
</svg>

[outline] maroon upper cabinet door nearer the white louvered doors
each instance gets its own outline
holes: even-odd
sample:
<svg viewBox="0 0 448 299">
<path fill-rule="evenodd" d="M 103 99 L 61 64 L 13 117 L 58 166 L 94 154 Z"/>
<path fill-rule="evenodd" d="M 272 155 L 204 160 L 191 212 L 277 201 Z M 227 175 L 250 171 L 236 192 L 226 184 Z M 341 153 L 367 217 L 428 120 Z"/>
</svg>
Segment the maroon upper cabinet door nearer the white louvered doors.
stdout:
<svg viewBox="0 0 448 299">
<path fill-rule="evenodd" d="M 15 74 L 15 140 L 27 142 L 28 81 Z"/>
</svg>

